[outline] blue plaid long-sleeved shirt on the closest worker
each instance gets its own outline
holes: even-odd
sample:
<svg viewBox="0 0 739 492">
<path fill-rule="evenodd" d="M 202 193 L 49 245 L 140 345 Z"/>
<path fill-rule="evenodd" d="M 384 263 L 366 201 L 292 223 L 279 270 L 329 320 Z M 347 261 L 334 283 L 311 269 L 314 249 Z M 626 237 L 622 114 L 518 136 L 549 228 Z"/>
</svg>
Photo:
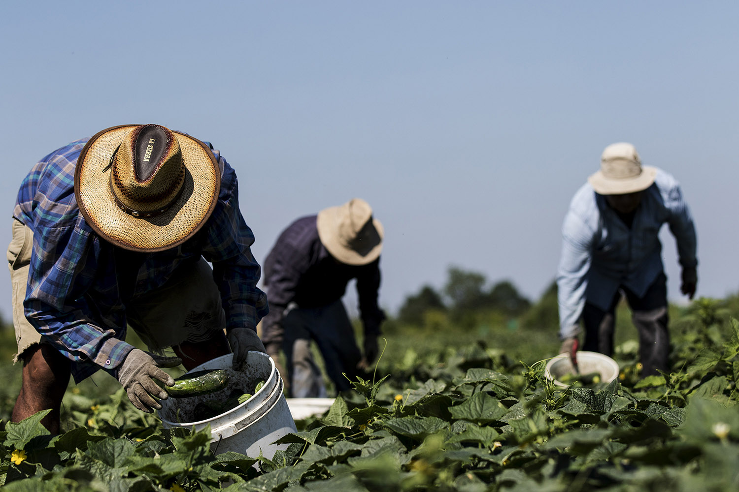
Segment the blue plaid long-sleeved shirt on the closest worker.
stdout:
<svg viewBox="0 0 739 492">
<path fill-rule="evenodd" d="M 256 288 L 261 272 L 251 254 L 253 233 L 239 211 L 236 173 L 219 151 L 213 152 L 221 170 L 220 194 L 208 222 L 180 246 L 142 254 L 136 273 L 116 268 L 116 254 L 123 250 L 100 238 L 77 206 L 75 164 L 87 140 L 72 142 L 35 164 L 13 210 L 13 217 L 33 230 L 25 315 L 72 360 L 75 381 L 101 368 L 112 372 L 133 349 L 123 341 L 123 299 L 159 288 L 178 266 L 201 256 L 213 265 L 227 329 L 256 329 L 268 312 L 267 298 Z M 126 274 L 131 285 L 120 285 L 118 278 Z"/>
</svg>

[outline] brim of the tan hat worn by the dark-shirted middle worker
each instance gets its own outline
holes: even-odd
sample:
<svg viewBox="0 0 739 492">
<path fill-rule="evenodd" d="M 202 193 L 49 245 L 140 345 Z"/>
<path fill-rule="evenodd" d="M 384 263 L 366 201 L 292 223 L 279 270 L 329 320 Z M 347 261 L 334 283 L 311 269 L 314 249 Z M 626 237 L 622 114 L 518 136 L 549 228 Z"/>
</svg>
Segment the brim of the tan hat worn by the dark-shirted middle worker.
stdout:
<svg viewBox="0 0 739 492">
<path fill-rule="evenodd" d="M 369 230 L 367 240 L 361 249 L 352 249 L 344 246 L 338 236 L 338 224 L 341 217 L 341 207 L 329 207 L 318 213 L 316 227 L 319 229 L 321 244 L 328 250 L 331 256 L 341 263 L 347 265 L 367 265 L 380 257 L 382 252 L 382 240 L 385 231 L 380 221 L 372 218 L 372 228 Z"/>
</svg>

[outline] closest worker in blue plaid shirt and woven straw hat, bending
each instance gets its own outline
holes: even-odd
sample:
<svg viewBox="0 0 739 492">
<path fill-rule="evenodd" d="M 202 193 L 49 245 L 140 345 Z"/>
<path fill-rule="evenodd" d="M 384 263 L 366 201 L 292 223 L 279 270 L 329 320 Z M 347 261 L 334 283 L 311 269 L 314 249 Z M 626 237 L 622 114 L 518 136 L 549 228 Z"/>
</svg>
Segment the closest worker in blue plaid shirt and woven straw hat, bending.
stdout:
<svg viewBox="0 0 739 492">
<path fill-rule="evenodd" d="M 234 170 L 191 136 L 122 125 L 44 157 L 21 184 L 7 252 L 23 361 L 13 421 L 52 409 L 43 423 L 58 433 L 70 373 L 79 382 L 100 369 L 137 409 L 161 408 L 153 380 L 174 381 L 124 342 L 126 325 L 188 370 L 229 344 L 236 367 L 264 352 L 253 239 Z"/>
</svg>

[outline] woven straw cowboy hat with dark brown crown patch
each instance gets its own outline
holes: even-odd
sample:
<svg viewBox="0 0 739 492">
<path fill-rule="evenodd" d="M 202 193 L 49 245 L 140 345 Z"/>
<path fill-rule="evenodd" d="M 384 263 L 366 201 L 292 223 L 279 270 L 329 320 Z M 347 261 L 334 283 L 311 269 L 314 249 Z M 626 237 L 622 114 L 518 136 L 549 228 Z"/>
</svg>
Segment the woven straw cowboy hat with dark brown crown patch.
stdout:
<svg viewBox="0 0 739 492">
<path fill-rule="evenodd" d="M 115 246 L 157 252 L 183 243 L 216 206 L 220 170 L 208 145 L 161 125 L 95 134 L 75 169 L 87 224 Z"/>
</svg>

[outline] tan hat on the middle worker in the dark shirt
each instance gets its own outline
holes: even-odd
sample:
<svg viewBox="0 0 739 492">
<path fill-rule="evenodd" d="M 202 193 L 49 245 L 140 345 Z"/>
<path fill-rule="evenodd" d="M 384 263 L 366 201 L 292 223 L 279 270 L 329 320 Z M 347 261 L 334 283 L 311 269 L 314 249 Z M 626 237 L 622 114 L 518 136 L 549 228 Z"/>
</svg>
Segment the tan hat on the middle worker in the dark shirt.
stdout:
<svg viewBox="0 0 739 492">
<path fill-rule="evenodd" d="M 367 265 L 380 256 L 384 229 L 361 198 L 321 210 L 316 226 L 321 243 L 341 263 Z"/>
</svg>

